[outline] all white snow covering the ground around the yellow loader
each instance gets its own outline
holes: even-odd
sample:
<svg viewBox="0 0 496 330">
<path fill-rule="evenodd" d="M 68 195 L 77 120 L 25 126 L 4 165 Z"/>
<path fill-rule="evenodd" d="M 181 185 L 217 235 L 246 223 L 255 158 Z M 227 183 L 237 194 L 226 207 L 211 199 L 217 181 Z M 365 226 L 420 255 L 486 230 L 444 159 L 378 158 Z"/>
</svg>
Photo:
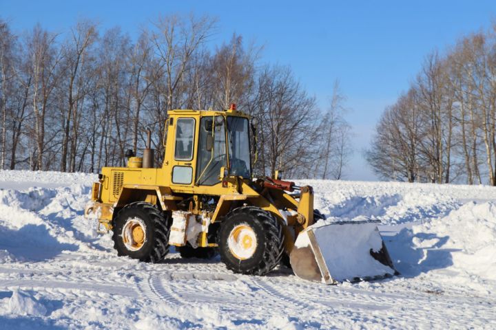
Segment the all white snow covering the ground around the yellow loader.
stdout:
<svg viewBox="0 0 496 330">
<path fill-rule="evenodd" d="M 94 179 L 0 172 L 1 329 L 496 328 L 496 188 L 299 181 L 327 216 L 382 221 L 402 274 L 321 285 L 119 258 L 83 217 Z"/>
</svg>

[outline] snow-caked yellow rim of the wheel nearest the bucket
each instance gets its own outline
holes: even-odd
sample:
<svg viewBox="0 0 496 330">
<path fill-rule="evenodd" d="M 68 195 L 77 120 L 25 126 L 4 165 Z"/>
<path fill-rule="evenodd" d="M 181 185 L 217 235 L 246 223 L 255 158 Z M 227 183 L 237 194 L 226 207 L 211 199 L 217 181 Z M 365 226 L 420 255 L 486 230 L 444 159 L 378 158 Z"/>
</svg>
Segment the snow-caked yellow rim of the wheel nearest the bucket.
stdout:
<svg viewBox="0 0 496 330">
<path fill-rule="evenodd" d="M 257 247 L 256 234 L 249 225 L 236 225 L 229 233 L 227 245 L 229 246 L 229 251 L 236 259 L 250 259 Z"/>
</svg>

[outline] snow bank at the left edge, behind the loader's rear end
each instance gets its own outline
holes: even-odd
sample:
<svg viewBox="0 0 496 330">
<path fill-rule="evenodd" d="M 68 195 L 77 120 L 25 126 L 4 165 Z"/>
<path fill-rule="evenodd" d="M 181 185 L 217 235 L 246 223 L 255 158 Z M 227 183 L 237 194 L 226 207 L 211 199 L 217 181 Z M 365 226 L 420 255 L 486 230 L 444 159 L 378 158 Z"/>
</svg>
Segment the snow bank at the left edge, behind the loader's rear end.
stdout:
<svg viewBox="0 0 496 330">
<path fill-rule="evenodd" d="M 108 238 L 98 237 L 95 223 L 83 217 L 94 177 L 1 170 L 0 263 L 101 250 Z"/>
</svg>

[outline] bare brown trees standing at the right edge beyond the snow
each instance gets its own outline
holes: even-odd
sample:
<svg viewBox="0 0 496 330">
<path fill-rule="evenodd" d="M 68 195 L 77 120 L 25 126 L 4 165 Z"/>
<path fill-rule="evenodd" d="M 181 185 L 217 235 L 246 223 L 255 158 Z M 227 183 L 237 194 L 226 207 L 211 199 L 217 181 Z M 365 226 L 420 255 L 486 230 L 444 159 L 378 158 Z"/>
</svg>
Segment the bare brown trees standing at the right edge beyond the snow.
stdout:
<svg viewBox="0 0 496 330">
<path fill-rule="evenodd" d="M 369 164 L 384 179 L 496 186 L 496 25 L 432 52 L 382 113 Z"/>
</svg>

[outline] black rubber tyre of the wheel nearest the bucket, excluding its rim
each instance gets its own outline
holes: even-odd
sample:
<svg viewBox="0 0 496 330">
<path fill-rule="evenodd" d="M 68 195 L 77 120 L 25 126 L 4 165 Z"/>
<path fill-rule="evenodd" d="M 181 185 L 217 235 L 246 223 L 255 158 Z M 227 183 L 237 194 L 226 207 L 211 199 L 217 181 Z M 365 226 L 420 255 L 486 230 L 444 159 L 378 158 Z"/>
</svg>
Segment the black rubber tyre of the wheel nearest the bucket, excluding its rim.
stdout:
<svg viewBox="0 0 496 330">
<path fill-rule="evenodd" d="M 231 252 L 228 239 L 234 228 L 249 227 L 256 236 L 256 248 L 248 259 L 240 259 Z M 284 236 L 282 225 L 270 212 L 254 206 L 242 206 L 227 214 L 219 234 L 220 260 L 235 273 L 262 276 L 279 265 Z"/>
</svg>

